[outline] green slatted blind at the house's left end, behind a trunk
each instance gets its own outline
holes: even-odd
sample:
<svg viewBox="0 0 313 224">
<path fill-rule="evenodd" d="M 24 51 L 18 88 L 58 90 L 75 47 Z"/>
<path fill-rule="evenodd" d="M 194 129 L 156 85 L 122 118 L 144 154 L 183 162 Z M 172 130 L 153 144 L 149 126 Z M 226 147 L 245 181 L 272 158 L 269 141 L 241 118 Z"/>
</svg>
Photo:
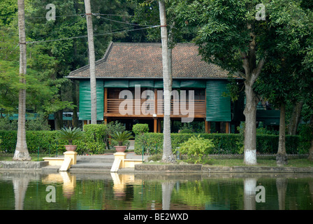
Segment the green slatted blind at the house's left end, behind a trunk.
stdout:
<svg viewBox="0 0 313 224">
<path fill-rule="evenodd" d="M 96 80 L 96 118 L 103 120 L 103 80 Z M 79 120 L 91 120 L 90 81 L 80 80 Z"/>
</svg>

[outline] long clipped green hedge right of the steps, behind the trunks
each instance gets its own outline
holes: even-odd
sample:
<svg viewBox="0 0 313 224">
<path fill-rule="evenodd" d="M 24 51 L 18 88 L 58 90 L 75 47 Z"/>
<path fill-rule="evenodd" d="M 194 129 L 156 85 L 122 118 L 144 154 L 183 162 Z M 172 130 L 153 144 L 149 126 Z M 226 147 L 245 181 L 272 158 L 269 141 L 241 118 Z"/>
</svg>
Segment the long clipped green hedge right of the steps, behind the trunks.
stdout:
<svg viewBox="0 0 313 224">
<path fill-rule="evenodd" d="M 240 134 L 171 134 L 172 148 L 175 153 L 182 142 L 187 141 L 191 136 L 200 136 L 205 139 L 212 139 L 214 149 L 212 154 L 242 154 L 243 137 Z M 278 136 L 271 134 L 259 134 L 256 136 L 256 151 L 259 154 L 275 154 L 278 148 Z M 163 149 L 162 133 L 145 133 L 136 136 L 135 153 L 156 154 Z M 309 148 L 300 141 L 299 136 L 286 136 L 287 154 L 307 154 Z"/>
</svg>

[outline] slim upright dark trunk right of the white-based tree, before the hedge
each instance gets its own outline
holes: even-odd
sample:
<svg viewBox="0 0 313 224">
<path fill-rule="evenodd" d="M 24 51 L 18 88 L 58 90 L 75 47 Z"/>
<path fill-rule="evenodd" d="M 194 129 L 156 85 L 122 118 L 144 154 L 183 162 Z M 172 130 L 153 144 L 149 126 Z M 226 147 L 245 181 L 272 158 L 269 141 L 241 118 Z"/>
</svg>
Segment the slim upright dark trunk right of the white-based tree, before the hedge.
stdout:
<svg viewBox="0 0 313 224">
<path fill-rule="evenodd" d="M 276 155 L 277 166 L 283 166 L 287 164 L 286 155 L 286 104 L 280 104 L 280 119 L 279 119 L 279 142 L 278 151 Z"/>
</svg>

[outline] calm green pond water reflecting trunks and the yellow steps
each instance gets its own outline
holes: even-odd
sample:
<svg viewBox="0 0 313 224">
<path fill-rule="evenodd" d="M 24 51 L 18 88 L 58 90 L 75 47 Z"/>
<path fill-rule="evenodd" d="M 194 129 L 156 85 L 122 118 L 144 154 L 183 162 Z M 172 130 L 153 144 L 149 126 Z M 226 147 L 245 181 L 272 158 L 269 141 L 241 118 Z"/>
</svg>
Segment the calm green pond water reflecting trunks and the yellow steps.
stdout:
<svg viewBox="0 0 313 224">
<path fill-rule="evenodd" d="M 312 174 L 0 173 L 1 210 L 312 210 Z"/>
</svg>

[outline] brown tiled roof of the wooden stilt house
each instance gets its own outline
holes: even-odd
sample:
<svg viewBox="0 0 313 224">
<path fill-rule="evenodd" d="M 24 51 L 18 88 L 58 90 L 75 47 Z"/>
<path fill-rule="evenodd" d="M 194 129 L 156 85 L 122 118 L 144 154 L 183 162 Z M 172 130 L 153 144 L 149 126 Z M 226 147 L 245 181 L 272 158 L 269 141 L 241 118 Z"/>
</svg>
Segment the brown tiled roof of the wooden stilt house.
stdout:
<svg viewBox="0 0 313 224">
<path fill-rule="evenodd" d="M 201 60 L 194 43 L 175 45 L 172 63 L 173 78 L 227 78 L 228 72 Z M 89 65 L 67 78 L 89 78 Z M 161 43 L 110 43 L 96 62 L 96 78 L 163 78 Z"/>
</svg>

